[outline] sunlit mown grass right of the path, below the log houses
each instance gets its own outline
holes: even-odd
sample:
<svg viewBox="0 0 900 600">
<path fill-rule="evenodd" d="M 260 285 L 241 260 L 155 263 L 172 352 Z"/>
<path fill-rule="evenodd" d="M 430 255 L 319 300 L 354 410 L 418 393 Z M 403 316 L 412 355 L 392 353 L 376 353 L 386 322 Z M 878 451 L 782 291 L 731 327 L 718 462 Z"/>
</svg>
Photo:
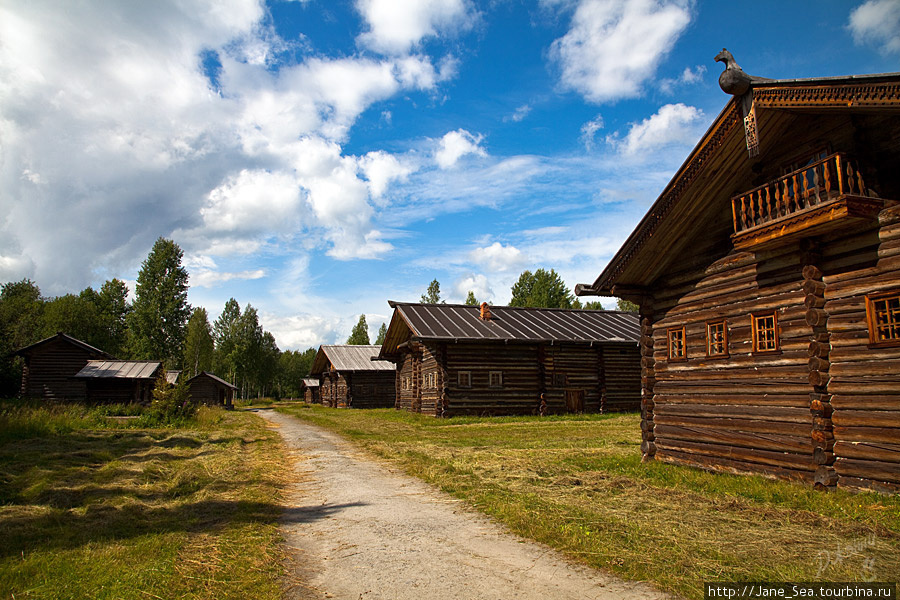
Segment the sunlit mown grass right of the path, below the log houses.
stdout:
<svg viewBox="0 0 900 600">
<path fill-rule="evenodd" d="M 434 419 L 280 408 L 588 565 L 701 598 L 704 581 L 897 581 L 900 498 L 641 464 L 637 415 Z"/>
</svg>

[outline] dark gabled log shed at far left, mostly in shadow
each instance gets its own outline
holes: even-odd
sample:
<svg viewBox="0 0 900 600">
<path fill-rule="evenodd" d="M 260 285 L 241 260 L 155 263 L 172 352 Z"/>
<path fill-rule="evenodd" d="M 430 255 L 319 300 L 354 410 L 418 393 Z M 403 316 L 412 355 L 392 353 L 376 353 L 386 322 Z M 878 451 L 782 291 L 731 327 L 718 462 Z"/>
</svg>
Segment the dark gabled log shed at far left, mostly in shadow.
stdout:
<svg viewBox="0 0 900 600">
<path fill-rule="evenodd" d="M 16 354 L 25 360 L 20 395 L 46 400 L 84 400 L 84 381 L 75 379 L 75 374 L 90 360 L 112 358 L 65 333 L 21 348 Z"/>
</svg>

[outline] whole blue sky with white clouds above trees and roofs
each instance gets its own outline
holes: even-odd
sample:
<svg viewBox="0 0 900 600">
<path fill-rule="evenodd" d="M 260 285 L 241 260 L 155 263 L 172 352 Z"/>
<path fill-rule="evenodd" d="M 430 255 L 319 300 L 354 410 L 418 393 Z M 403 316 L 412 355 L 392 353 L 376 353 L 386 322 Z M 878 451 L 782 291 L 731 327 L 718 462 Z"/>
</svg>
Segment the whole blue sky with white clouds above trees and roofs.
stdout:
<svg viewBox="0 0 900 600">
<path fill-rule="evenodd" d="M 133 282 L 164 236 L 282 349 L 435 278 L 590 282 L 727 102 L 723 47 L 900 71 L 900 0 L 0 0 L 0 282 Z"/>
</svg>

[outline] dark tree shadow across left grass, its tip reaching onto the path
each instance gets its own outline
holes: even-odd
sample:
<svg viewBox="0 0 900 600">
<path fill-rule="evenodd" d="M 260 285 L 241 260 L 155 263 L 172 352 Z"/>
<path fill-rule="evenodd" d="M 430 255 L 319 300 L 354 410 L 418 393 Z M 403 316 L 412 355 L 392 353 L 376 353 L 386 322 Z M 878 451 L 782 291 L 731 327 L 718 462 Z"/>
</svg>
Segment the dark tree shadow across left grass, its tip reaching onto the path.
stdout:
<svg viewBox="0 0 900 600">
<path fill-rule="evenodd" d="M 79 431 L 0 444 L 0 558 L 247 523 L 309 523 L 355 506 L 234 499 L 254 482 L 230 468 L 210 473 L 204 461 L 239 440 L 222 460 L 240 462 L 236 454 L 258 442 L 155 434 Z"/>
</svg>

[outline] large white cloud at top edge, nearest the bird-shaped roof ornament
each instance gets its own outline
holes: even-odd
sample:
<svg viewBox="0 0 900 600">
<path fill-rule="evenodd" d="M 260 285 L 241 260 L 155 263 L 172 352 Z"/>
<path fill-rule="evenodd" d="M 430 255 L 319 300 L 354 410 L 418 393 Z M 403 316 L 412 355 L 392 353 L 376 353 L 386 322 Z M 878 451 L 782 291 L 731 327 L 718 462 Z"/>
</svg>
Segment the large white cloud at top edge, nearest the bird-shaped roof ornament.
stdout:
<svg viewBox="0 0 900 600">
<path fill-rule="evenodd" d="M 636 97 L 690 20 L 688 0 L 581 0 L 551 55 L 592 102 Z"/>
</svg>

